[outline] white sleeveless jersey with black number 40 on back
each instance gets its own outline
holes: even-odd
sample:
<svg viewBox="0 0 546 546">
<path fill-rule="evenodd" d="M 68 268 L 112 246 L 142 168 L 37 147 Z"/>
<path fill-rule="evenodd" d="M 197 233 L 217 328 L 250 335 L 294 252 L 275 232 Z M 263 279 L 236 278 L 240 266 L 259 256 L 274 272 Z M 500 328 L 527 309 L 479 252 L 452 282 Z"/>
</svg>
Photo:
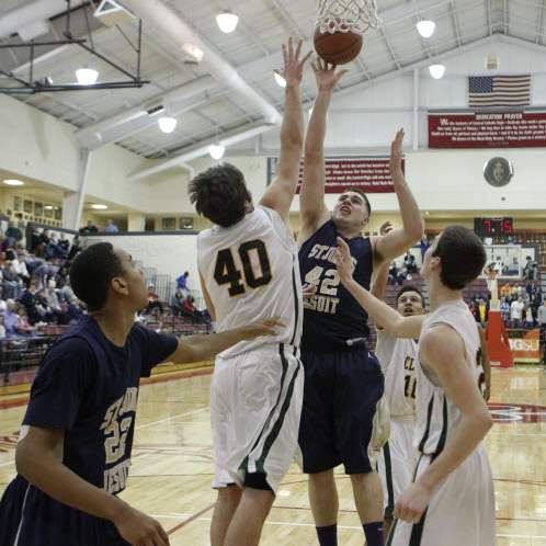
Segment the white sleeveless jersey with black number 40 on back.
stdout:
<svg viewBox="0 0 546 546">
<path fill-rule="evenodd" d="M 197 264 L 216 311 L 218 332 L 275 317 L 286 325 L 275 338 L 242 341 L 225 351 L 224 357 L 264 343 L 299 346 L 303 296 L 297 247 L 276 211 L 257 206 L 229 228 L 202 231 Z"/>
</svg>

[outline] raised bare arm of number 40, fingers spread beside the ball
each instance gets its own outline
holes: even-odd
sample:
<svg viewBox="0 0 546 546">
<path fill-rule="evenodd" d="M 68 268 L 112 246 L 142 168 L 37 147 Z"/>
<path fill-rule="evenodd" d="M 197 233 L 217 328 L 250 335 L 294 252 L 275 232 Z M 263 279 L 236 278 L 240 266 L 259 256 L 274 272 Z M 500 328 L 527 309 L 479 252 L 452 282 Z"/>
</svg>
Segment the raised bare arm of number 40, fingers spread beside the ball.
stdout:
<svg viewBox="0 0 546 546">
<path fill-rule="evenodd" d="M 261 205 L 275 209 L 283 219 L 289 221 L 289 211 L 299 178 L 299 161 L 304 147 L 304 113 L 299 86 L 304 66 L 310 52 L 299 59 L 302 41 L 296 49 L 292 38 L 283 44 L 284 70 L 277 73 L 286 81 L 283 125 L 281 126 L 281 155 L 273 182 L 265 191 Z"/>
</svg>

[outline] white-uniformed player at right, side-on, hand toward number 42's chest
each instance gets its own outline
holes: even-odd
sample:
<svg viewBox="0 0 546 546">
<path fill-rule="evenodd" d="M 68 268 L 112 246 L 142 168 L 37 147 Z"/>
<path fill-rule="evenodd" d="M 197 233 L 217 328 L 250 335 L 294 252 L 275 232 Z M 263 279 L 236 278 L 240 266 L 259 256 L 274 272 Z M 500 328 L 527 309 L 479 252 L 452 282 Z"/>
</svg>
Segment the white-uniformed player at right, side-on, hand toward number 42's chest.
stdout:
<svg viewBox="0 0 546 546">
<path fill-rule="evenodd" d="M 352 278 L 339 240 L 341 282 L 374 320 L 397 338 L 419 338 L 418 458 L 400 496 L 388 546 L 494 546 L 494 492 L 482 440 L 492 419 L 480 395 L 480 340 L 463 288 L 481 272 L 486 252 L 469 229 L 451 226 L 426 251 L 422 275 L 431 312 L 401 317 Z"/>
</svg>

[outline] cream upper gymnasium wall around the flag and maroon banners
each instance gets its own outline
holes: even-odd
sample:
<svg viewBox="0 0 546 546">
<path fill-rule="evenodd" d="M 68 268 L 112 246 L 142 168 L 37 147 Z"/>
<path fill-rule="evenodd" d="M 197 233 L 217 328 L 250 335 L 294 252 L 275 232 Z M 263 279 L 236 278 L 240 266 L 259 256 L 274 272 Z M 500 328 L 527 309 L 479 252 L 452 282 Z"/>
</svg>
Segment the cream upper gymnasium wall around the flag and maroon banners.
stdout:
<svg viewBox="0 0 546 546">
<path fill-rule="evenodd" d="M 544 208 L 546 155 L 543 149 L 520 150 L 428 150 L 425 105 L 457 109 L 466 105 L 467 73 L 485 73 L 488 54 L 500 58 L 500 72 L 533 71 L 533 105 L 546 105 L 544 53 L 533 44 L 521 45 L 513 38 L 493 36 L 464 53 L 442 59 L 447 66 L 443 80 L 432 80 L 425 67 L 419 71 L 418 141 L 411 149 L 413 75 L 388 76 L 359 86 L 335 96 L 329 115 L 327 152 L 330 155 L 387 153 L 388 144 L 400 126 L 407 129 L 407 174 L 423 211 L 503 211 Z M 364 54 L 365 55 L 365 52 Z M 356 66 L 352 70 L 359 70 Z M 494 73 L 494 72 L 493 72 Z M 61 191 L 78 187 L 80 150 L 73 127 L 14 99 L 0 95 L 0 126 L 9 138 L 2 139 L 0 169 L 55 185 Z M 258 150 L 258 153 L 257 153 Z M 249 186 L 259 198 L 265 190 L 266 158 L 278 152 L 278 132 L 262 135 L 258 141 L 241 143 L 228 150 L 226 160 L 246 173 Z M 492 189 L 482 178 L 485 162 L 502 155 L 513 161 L 513 182 L 503 190 Z M 127 175 L 155 164 L 111 145 L 93 153 L 88 196 L 124 207 L 127 213 L 147 216 L 193 215 L 187 198 L 190 174 L 173 169 L 146 181 L 128 182 Z M 192 162 L 198 172 L 215 162 L 203 158 Z M 502 200 L 504 197 L 504 201 Z M 327 197 L 329 206 L 335 196 Z M 394 194 L 371 196 L 376 212 L 398 209 Z M 296 197 L 293 211 L 299 209 Z"/>
</svg>

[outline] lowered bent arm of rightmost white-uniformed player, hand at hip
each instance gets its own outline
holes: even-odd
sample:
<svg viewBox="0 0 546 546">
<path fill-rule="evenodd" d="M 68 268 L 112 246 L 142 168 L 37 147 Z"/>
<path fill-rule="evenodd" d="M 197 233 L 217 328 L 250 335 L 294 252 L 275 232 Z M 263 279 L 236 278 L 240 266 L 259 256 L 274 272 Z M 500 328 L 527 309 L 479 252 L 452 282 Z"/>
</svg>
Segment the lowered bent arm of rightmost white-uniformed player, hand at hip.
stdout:
<svg viewBox="0 0 546 546">
<path fill-rule="evenodd" d="M 420 359 L 435 372 L 445 395 L 462 417 L 442 453 L 396 504 L 395 517 L 416 523 L 437 486 L 476 450 L 493 424 L 466 363 L 465 346 L 458 333 L 447 325 L 431 329 L 421 338 Z"/>
</svg>

